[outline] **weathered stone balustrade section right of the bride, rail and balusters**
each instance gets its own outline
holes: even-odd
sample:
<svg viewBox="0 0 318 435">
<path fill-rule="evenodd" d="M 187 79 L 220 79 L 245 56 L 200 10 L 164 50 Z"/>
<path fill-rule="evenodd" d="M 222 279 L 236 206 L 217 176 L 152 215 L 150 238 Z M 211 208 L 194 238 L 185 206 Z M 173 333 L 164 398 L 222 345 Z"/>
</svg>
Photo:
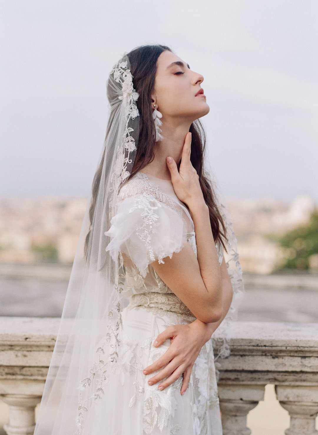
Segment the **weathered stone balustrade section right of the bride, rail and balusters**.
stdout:
<svg viewBox="0 0 318 435">
<path fill-rule="evenodd" d="M 274 384 L 291 419 L 286 435 L 314 435 L 318 413 L 318 323 L 235 322 L 231 355 L 219 360 L 223 435 L 249 435 L 248 412 Z"/>
</svg>

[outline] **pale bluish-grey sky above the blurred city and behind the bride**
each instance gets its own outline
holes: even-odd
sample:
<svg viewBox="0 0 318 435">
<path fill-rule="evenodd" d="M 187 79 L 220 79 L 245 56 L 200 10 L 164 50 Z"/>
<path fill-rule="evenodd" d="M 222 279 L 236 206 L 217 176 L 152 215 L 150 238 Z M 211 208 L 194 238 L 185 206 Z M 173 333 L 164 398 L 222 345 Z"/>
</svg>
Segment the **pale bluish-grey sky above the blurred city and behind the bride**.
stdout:
<svg viewBox="0 0 318 435">
<path fill-rule="evenodd" d="M 4 1 L 0 195 L 88 194 L 125 51 L 168 45 L 203 75 L 225 197 L 318 201 L 318 2 Z"/>
</svg>

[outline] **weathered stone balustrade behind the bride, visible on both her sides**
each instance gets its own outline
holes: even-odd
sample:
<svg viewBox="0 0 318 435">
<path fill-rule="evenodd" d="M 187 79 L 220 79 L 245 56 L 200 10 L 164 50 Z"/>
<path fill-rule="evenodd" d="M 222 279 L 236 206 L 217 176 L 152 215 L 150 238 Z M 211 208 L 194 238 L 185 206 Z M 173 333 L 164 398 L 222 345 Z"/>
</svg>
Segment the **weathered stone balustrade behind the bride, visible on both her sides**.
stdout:
<svg viewBox="0 0 318 435">
<path fill-rule="evenodd" d="M 9 435 L 33 434 L 59 322 L 0 318 L 0 397 L 9 405 Z M 231 355 L 219 360 L 223 434 L 249 435 L 247 414 L 263 400 L 265 385 L 274 384 L 290 415 L 285 434 L 317 435 L 318 324 L 235 322 L 231 328 Z"/>
</svg>

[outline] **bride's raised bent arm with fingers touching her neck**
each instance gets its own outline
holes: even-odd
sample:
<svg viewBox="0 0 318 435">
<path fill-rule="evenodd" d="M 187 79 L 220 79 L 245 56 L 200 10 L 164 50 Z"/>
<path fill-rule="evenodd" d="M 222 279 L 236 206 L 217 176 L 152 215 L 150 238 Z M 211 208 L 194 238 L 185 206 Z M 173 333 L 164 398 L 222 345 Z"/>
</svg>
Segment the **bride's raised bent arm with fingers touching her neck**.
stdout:
<svg viewBox="0 0 318 435">
<path fill-rule="evenodd" d="M 213 323 L 222 317 L 222 277 L 212 234 L 209 207 L 205 204 L 199 176 L 190 161 L 191 134 L 186 135 L 178 171 L 176 162 L 168 163 L 174 191 L 190 210 L 195 228 L 197 256 L 189 243 L 164 263 L 151 263 L 163 282 L 202 322 Z"/>
</svg>

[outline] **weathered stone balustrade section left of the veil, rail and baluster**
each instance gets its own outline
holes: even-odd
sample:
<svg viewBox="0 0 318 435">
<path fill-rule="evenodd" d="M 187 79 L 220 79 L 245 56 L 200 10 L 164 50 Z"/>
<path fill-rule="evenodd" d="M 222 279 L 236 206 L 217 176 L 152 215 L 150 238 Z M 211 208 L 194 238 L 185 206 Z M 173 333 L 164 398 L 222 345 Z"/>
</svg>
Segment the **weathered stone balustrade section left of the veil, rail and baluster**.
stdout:
<svg viewBox="0 0 318 435">
<path fill-rule="evenodd" d="M 32 435 L 59 318 L 0 317 L 0 397 L 9 405 L 8 435 Z"/>
</svg>

